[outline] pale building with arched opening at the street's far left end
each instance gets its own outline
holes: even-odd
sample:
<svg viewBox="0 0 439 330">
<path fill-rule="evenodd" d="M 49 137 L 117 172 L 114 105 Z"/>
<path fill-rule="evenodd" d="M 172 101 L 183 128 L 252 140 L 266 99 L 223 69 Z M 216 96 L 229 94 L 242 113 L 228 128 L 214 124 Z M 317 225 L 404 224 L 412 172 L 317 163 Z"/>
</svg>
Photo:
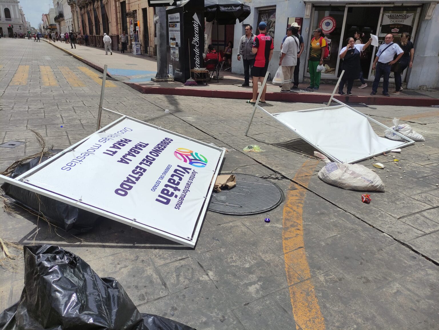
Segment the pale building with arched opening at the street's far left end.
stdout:
<svg viewBox="0 0 439 330">
<path fill-rule="evenodd" d="M 0 33 L 14 37 L 14 33 L 27 33 L 25 15 L 18 0 L 0 0 Z"/>
</svg>

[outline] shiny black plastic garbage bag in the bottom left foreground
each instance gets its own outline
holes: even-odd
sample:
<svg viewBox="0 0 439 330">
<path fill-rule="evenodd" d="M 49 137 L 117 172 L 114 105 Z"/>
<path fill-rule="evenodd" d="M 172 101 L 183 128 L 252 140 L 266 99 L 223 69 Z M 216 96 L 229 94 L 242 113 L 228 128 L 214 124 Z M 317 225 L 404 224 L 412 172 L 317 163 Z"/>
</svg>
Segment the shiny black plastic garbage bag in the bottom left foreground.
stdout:
<svg viewBox="0 0 439 330">
<path fill-rule="evenodd" d="M 117 280 L 61 247 L 24 247 L 24 255 L 25 287 L 0 314 L 0 330 L 194 330 L 141 314 Z"/>
</svg>

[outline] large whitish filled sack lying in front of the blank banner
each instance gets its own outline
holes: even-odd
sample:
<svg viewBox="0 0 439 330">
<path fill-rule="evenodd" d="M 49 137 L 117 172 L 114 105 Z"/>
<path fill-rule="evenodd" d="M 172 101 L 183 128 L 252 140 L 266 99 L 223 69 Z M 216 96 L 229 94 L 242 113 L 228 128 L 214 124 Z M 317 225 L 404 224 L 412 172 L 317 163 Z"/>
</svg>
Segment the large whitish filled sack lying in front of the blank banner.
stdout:
<svg viewBox="0 0 439 330">
<path fill-rule="evenodd" d="M 363 165 L 333 163 L 317 151 L 314 151 L 314 156 L 326 163 L 317 176 L 330 185 L 348 190 L 385 191 L 378 174 Z"/>
</svg>

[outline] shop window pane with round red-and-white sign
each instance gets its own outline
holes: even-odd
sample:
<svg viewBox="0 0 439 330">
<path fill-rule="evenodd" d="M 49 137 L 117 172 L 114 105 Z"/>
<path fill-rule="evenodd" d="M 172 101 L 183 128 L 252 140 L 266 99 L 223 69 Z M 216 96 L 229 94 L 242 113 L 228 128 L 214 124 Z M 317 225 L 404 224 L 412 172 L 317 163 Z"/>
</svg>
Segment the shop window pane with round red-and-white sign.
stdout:
<svg viewBox="0 0 439 330">
<path fill-rule="evenodd" d="M 335 68 L 337 67 L 344 15 L 345 7 L 316 7 L 314 10 L 312 29 L 320 28 L 325 35 L 324 39 L 329 48 L 329 55 L 324 58 L 324 74 L 331 76 L 335 76 Z M 309 54 L 310 51 L 308 51 L 308 56 Z"/>
</svg>

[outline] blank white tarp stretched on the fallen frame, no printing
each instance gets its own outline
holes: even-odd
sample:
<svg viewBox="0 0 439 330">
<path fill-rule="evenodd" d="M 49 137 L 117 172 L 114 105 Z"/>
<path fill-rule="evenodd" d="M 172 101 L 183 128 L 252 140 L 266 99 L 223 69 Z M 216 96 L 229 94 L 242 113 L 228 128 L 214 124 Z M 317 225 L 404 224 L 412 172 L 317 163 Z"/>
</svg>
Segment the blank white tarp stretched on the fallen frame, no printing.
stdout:
<svg viewBox="0 0 439 330">
<path fill-rule="evenodd" d="M 407 145 L 379 137 L 369 120 L 348 106 L 282 112 L 273 117 L 339 163 L 354 163 Z"/>
</svg>

